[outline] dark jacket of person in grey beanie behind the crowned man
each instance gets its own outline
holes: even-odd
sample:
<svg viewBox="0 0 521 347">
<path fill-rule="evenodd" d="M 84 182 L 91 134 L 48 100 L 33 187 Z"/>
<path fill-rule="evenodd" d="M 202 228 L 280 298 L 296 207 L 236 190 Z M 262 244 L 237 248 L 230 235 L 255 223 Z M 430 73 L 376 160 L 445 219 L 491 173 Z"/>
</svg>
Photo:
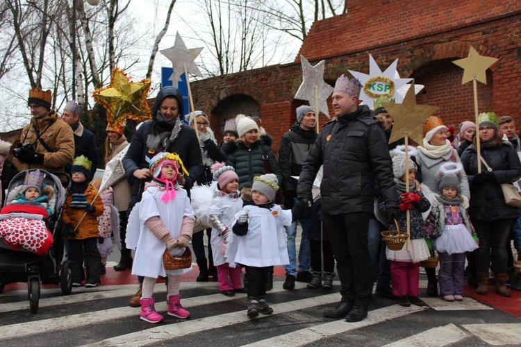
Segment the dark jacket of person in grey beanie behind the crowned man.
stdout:
<svg viewBox="0 0 521 347">
<path fill-rule="evenodd" d="M 315 129 L 304 130 L 299 124 L 294 124 L 291 130 L 282 135 L 279 145 L 279 167 L 282 171 L 282 190 L 297 194 L 297 180 L 291 176 L 300 176 L 302 165 L 308 156 L 311 146 L 318 134 Z"/>
</svg>

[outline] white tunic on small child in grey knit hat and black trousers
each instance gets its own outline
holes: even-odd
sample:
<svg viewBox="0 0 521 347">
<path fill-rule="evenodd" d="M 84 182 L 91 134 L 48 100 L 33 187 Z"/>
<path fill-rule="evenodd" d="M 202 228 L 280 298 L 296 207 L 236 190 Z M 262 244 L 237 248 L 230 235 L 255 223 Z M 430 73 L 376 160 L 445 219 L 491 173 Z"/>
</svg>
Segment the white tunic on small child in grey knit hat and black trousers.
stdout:
<svg viewBox="0 0 521 347">
<path fill-rule="evenodd" d="M 227 260 L 231 267 L 235 264 L 265 267 L 290 264 L 286 230 L 292 221 L 291 210 L 259 208 L 246 205 L 235 214 L 233 224 L 243 211 L 248 210 L 248 233 L 238 236 L 230 233 L 227 244 Z M 233 227 L 233 226 L 232 226 Z"/>
</svg>

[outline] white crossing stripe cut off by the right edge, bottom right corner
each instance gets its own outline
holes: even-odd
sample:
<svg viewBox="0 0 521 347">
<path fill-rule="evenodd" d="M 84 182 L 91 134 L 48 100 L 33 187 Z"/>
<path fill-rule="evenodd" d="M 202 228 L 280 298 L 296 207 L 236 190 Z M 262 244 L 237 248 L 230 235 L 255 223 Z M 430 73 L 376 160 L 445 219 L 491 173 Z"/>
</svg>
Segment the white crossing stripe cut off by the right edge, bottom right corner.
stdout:
<svg viewBox="0 0 521 347">
<path fill-rule="evenodd" d="M 462 324 L 461 326 L 493 346 L 519 346 L 521 342 L 521 323 Z"/>
</svg>

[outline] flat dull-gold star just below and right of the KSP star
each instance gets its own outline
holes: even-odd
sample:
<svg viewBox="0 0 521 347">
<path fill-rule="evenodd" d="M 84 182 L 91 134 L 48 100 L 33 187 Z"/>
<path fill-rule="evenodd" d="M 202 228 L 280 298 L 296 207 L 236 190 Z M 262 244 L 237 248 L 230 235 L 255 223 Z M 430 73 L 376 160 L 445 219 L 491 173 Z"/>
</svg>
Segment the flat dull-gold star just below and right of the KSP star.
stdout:
<svg viewBox="0 0 521 347">
<path fill-rule="evenodd" d="M 423 123 L 440 108 L 437 106 L 417 105 L 414 94 L 414 82 L 405 94 L 402 103 L 381 103 L 392 117 L 392 133 L 389 143 L 395 142 L 404 136 L 413 139 L 417 144 L 422 143 Z"/>
</svg>

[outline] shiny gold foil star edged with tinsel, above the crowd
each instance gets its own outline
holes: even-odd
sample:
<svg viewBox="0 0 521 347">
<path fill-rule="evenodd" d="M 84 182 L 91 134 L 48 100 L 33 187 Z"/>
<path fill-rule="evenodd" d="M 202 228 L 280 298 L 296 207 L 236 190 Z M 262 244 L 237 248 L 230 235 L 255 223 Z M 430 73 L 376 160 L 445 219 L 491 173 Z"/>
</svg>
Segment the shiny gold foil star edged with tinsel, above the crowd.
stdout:
<svg viewBox="0 0 521 347">
<path fill-rule="evenodd" d="M 147 96 L 151 81 L 148 78 L 140 82 L 131 82 L 129 77 L 115 67 L 110 74 L 110 85 L 94 90 L 94 100 L 107 110 L 107 123 L 117 128 L 126 119 L 147 121 L 151 112 L 147 104 Z"/>
</svg>

